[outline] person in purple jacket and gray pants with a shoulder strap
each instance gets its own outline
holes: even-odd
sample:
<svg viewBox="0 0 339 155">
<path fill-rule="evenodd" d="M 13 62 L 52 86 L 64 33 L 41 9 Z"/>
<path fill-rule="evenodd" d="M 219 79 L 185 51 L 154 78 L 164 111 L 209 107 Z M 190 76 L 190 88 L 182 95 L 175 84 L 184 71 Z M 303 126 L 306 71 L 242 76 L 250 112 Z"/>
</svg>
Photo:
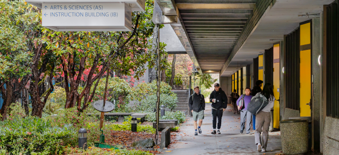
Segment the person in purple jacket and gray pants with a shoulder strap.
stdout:
<svg viewBox="0 0 339 155">
<path fill-rule="evenodd" d="M 239 99 L 237 100 L 237 106 L 240 111 L 240 121 L 241 121 L 241 127 L 240 127 L 240 133 L 242 134 L 243 129 L 245 128 L 245 122 L 246 122 L 246 134 L 250 135 L 251 133 L 249 132 L 250 130 L 250 125 L 252 122 L 252 114 L 247 111 L 247 105 L 249 102 L 251 102 L 252 95 L 249 95 L 251 92 L 250 88 L 245 88 L 245 94 L 242 94 L 244 96 L 240 96 Z M 239 101 L 242 100 L 243 97 L 243 107 L 240 109 L 239 107 Z"/>
</svg>

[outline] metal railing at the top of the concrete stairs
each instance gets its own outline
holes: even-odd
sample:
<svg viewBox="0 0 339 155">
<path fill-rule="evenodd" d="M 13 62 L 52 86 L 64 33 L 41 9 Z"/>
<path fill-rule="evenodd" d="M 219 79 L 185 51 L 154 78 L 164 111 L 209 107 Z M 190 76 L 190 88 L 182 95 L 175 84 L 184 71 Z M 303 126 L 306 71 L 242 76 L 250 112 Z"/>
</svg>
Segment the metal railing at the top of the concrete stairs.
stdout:
<svg viewBox="0 0 339 155">
<path fill-rule="evenodd" d="M 171 77 L 162 77 L 161 79 L 169 84 Z M 190 89 L 191 82 L 191 77 L 174 77 L 172 89 Z"/>
</svg>

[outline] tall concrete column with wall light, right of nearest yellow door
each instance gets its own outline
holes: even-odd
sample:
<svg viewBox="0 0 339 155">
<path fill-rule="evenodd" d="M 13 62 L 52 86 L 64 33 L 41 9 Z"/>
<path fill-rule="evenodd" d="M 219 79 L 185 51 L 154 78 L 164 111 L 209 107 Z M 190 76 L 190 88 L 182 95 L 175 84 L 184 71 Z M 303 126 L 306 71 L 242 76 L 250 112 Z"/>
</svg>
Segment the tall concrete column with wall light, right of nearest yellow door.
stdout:
<svg viewBox="0 0 339 155">
<path fill-rule="evenodd" d="M 312 19 L 312 148 L 320 149 L 320 65 L 318 58 L 320 56 L 320 18 Z"/>
</svg>

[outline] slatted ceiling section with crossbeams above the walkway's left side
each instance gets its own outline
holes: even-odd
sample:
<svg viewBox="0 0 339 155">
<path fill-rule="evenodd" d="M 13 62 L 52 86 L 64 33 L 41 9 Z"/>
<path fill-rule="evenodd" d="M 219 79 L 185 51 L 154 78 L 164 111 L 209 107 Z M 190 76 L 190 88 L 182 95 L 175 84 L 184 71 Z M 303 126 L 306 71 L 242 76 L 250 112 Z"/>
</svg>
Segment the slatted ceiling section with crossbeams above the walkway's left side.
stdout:
<svg viewBox="0 0 339 155">
<path fill-rule="evenodd" d="M 256 0 L 175 0 L 202 71 L 219 73 Z"/>
</svg>

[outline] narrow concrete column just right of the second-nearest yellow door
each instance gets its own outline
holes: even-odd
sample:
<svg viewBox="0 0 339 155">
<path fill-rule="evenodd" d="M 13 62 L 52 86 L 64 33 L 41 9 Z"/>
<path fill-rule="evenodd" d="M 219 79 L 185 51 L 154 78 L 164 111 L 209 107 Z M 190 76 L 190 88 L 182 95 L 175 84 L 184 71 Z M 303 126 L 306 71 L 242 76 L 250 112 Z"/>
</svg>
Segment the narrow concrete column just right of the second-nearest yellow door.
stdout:
<svg viewBox="0 0 339 155">
<path fill-rule="evenodd" d="M 280 41 L 280 69 L 281 69 L 281 71 L 280 71 L 280 92 L 279 92 L 279 94 L 280 94 L 280 101 L 279 101 L 279 104 L 280 104 L 280 120 L 283 120 L 284 119 L 284 110 L 285 110 L 285 102 L 284 102 L 284 90 L 285 90 L 285 88 L 284 88 L 284 81 L 285 81 L 285 79 L 284 79 L 284 73 L 283 73 L 283 67 L 285 66 L 285 64 L 284 64 L 284 41 Z"/>
</svg>

